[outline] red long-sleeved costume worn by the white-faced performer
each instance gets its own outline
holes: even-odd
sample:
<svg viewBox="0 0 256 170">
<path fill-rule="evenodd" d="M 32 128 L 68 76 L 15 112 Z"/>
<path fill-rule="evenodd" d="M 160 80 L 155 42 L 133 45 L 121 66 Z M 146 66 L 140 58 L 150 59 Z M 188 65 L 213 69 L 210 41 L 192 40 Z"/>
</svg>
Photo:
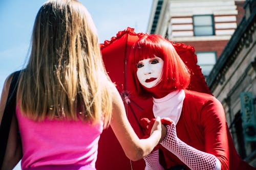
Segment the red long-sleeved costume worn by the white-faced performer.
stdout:
<svg viewBox="0 0 256 170">
<path fill-rule="evenodd" d="M 152 111 L 147 111 L 144 116 L 154 118 Z M 212 95 L 185 90 L 176 131 L 178 138 L 191 147 L 215 155 L 221 162 L 221 169 L 255 169 L 237 154 L 226 125 L 223 107 Z M 160 152 L 159 160 L 163 167 L 170 168 L 180 164 L 189 169 L 161 145 L 160 150 L 163 154 Z M 165 161 L 161 161 L 163 159 Z"/>
</svg>

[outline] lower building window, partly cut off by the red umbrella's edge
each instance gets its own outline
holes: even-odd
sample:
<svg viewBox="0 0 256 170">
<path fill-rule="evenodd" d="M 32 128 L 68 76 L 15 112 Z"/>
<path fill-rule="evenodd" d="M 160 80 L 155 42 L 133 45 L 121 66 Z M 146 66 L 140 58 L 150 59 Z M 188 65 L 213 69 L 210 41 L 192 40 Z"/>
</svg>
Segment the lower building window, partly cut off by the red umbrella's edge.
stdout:
<svg viewBox="0 0 256 170">
<path fill-rule="evenodd" d="M 197 64 L 202 68 L 204 77 L 207 78 L 216 63 L 216 52 L 196 52 L 196 54 Z"/>
</svg>

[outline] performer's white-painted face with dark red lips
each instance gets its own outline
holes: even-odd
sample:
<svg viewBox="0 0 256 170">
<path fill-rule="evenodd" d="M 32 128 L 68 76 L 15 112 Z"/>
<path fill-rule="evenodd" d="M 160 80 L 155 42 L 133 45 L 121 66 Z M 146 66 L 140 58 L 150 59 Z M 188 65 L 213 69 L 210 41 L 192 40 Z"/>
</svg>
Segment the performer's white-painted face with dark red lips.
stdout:
<svg viewBox="0 0 256 170">
<path fill-rule="evenodd" d="M 159 57 L 148 58 L 138 62 L 137 77 L 141 85 L 151 88 L 161 79 L 163 60 Z"/>
</svg>

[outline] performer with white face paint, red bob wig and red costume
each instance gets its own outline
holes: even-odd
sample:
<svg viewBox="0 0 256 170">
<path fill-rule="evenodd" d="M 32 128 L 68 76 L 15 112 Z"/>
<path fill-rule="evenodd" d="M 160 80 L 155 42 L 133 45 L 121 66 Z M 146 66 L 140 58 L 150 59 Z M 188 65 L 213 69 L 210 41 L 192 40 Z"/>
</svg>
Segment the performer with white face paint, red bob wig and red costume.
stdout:
<svg viewBox="0 0 256 170">
<path fill-rule="evenodd" d="M 159 169 L 159 163 L 164 168 L 179 164 L 200 170 L 255 169 L 234 149 L 222 104 L 210 94 L 185 90 L 195 72 L 185 66 L 172 43 L 159 35 L 145 35 L 132 49 L 130 66 L 138 95 L 153 96 L 154 116 L 170 120 L 159 144 L 165 161 L 161 162 L 161 152 L 158 156 L 153 151 L 144 158 L 146 169 Z"/>
</svg>

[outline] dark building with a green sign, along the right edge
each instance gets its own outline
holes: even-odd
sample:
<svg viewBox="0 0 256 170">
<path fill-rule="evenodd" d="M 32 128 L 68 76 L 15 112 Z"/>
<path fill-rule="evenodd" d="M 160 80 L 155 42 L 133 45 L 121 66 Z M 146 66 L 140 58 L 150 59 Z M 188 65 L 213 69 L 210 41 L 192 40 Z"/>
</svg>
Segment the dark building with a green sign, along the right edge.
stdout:
<svg viewBox="0 0 256 170">
<path fill-rule="evenodd" d="M 247 0 L 244 9 L 207 84 L 225 109 L 239 155 L 256 167 L 256 1 Z"/>
</svg>

